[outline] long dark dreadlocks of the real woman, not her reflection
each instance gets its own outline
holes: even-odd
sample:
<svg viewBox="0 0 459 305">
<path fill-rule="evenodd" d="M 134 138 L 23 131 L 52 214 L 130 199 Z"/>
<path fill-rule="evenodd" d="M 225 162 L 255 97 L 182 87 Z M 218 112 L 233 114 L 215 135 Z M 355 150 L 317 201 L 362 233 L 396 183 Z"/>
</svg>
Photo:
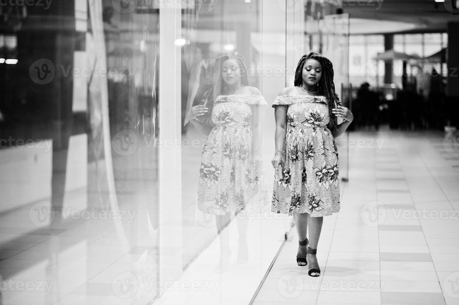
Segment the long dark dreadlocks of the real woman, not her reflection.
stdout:
<svg viewBox="0 0 459 305">
<path fill-rule="evenodd" d="M 338 119 L 336 115 L 331 111 L 335 108 L 336 105 L 341 105 L 338 94 L 335 91 L 335 84 L 333 83 L 333 64 L 331 61 L 317 53 L 309 52 L 306 55 L 303 55 L 298 61 L 297 70 L 295 71 L 295 86 L 301 86 L 303 83 L 303 66 L 308 59 L 314 59 L 319 61 L 322 65 L 322 77 L 319 80 L 319 88 L 324 92 L 325 98 L 327 99 L 328 104 L 328 113 L 330 115 L 330 129 L 334 129 L 338 124 Z"/>
</svg>

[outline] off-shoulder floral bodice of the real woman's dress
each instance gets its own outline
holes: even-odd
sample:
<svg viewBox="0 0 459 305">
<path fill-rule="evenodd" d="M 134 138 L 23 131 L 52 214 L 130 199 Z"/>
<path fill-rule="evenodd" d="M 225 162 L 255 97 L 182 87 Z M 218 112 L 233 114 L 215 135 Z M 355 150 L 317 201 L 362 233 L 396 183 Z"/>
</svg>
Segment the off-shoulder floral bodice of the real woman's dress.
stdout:
<svg viewBox="0 0 459 305">
<path fill-rule="evenodd" d="M 273 103 L 288 105 L 287 128 L 325 128 L 330 122 L 327 99 L 325 96 L 279 95 Z"/>
</svg>

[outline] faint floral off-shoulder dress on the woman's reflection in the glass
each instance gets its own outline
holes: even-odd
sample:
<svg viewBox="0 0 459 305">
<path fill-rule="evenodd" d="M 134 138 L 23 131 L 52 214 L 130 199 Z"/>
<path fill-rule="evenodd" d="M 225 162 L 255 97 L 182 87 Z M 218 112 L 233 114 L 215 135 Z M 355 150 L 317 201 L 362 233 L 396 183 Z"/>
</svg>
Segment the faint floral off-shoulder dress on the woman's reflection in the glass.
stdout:
<svg viewBox="0 0 459 305">
<path fill-rule="evenodd" d="M 219 95 L 214 102 L 210 132 L 202 151 L 198 208 L 209 214 L 261 211 L 267 192 L 263 170 L 252 166 L 252 108 L 268 105 L 261 95 Z"/>
</svg>

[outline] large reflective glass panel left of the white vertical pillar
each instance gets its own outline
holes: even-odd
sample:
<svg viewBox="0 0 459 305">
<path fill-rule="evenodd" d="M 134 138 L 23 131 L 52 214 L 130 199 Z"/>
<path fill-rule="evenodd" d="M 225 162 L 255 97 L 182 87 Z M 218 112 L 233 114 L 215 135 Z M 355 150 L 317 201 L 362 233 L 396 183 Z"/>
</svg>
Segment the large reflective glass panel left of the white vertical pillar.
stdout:
<svg viewBox="0 0 459 305">
<path fill-rule="evenodd" d="M 48 2 L 0 9 L 15 33 L 0 34 L 0 57 L 17 61 L 0 65 L 0 138 L 11 139 L 0 172 L 21 181 L 0 183 L 1 209 L 22 234 L 2 242 L 48 240 L 22 267 L 42 268 L 56 291 L 71 281 L 81 304 L 147 304 L 158 291 L 130 284 L 159 279 L 158 10 Z"/>
</svg>

